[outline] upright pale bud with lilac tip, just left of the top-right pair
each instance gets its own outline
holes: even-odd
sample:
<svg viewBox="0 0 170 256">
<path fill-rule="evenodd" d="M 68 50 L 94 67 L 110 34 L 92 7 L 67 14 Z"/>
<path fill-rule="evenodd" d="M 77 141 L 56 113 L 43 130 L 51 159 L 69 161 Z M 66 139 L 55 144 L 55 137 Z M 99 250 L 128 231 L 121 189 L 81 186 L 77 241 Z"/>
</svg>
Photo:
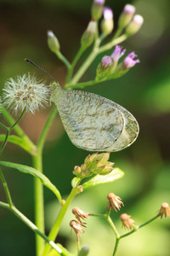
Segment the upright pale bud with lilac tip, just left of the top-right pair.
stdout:
<svg viewBox="0 0 170 256">
<path fill-rule="evenodd" d="M 113 12 L 110 8 L 104 8 L 103 14 L 104 20 L 101 22 L 101 30 L 105 35 L 109 35 L 114 27 Z"/>
</svg>

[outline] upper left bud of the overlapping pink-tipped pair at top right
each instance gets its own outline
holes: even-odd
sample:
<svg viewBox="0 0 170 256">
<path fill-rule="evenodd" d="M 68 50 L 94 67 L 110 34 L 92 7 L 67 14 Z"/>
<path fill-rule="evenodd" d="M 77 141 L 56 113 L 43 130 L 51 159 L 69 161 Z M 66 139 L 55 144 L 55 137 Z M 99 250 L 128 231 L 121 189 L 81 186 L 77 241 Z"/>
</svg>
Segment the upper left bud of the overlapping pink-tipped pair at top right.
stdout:
<svg viewBox="0 0 170 256">
<path fill-rule="evenodd" d="M 118 20 L 118 26 L 120 28 L 124 28 L 125 26 L 127 26 L 129 22 L 133 19 L 134 13 L 135 7 L 131 4 L 126 4 Z"/>
</svg>

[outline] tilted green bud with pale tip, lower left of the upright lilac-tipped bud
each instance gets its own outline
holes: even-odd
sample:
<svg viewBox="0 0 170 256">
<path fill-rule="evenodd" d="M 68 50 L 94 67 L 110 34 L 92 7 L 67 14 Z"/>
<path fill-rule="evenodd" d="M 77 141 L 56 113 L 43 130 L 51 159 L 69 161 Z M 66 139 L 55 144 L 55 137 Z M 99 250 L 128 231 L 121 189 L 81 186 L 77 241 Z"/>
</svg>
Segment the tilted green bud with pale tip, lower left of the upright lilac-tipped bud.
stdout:
<svg viewBox="0 0 170 256">
<path fill-rule="evenodd" d="M 82 44 L 82 47 L 84 47 L 85 49 L 88 48 L 88 46 L 90 46 L 94 42 L 96 28 L 97 28 L 96 21 L 91 20 L 88 23 L 88 27 L 86 31 L 83 32 L 82 38 L 81 38 L 81 44 Z"/>
</svg>

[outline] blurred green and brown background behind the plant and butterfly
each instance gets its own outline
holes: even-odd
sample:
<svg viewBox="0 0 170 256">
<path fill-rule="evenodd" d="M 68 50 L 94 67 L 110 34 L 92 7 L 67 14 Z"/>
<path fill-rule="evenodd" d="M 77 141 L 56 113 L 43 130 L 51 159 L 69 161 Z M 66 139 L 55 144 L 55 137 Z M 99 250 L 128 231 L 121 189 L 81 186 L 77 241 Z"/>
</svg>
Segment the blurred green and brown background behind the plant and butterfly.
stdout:
<svg viewBox="0 0 170 256">
<path fill-rule="evenodd" d="M 115 27 L 118 16 L 126 3 L 132 3 L 137 13 L 144 16 L 141 30 L 122 43 L 127 53 L 135 50 L 140 64 L 121 79 L 96 84 L 85 90 L 105 96 L 121 104 L 139 121 L 137 141 L 125 150 L 111 154 L 111 161 L 120 167 L 125 176 L 115 183 L 101 185 L 78 195 L 71 207 L 85 212 L 105 212 L 106 196 L 119 195 L 125 207 L 112 212 L 118 230 L 123 234 L 119 216 L 130 214 L 136 224 L 152 218 L 161 202 L 170 203 L 170 55 L 169 55 L 169 0 L 111 1 L 106 5 L 114 11 Z M 0 77 L 1 90 L 6 79 L 23 73 L 36 73 L 38 79 L 50 79 L 24 61 L 30 58 L 47 70 L 59 84 L 65 83 L 66 69 L 50 52 L 46 32 L 51 29 L 59 38 L 62 53 L 72 60 L 80 46 L 80 37 L 90 20 L 92 0 L 0 0 Z M 111 55 L 111 51 L 107 54 Z M 82 56 L 86 58 L 88 51 Z M 100 55 L 83 80 L 93 79 Z M 81 61 L 78 63 L 81 65 Z M 49 109 L 42 109 L 35 116 L 27 114 L 20 125 L 36 142 Z M 1 117 L 1 121 L 3 118 Z M 76 148 L 65 134 L 59 117 L 48 134 L 44 149 L 44 174 L 58 187 L 62 195 L 71 190 L 72 170 L 81 165 L 88 152 Z M 8 143 L 2 160 L 31 166 L 31 157 L 20 148 Z M 13 169 L 4 175 L 13 196 L 14 205 L 34 219 L 33 178 Z M 54 195 L 44 188 L 47 234 L 54 223 L 58 204 Z M 0 184 L 0 200 L 6 201 Z M 70 234 L 71 208 L 65 216 L 58 242 L 76 253 L 76 237 Z M 170 255 L 169 219 L 157 219 L 139 232 L 124 238 L 117 256 L 168 256 Z M 104 219 L 89 218 L 88 228 L 81 237 L 81 245 L 90 247 L 89 256 L 110 256 L 115 237 Z M 35 255 L 34 234 L 25 224 L 3 208 L 0 209 L 0 255 Z"/>
</svg>

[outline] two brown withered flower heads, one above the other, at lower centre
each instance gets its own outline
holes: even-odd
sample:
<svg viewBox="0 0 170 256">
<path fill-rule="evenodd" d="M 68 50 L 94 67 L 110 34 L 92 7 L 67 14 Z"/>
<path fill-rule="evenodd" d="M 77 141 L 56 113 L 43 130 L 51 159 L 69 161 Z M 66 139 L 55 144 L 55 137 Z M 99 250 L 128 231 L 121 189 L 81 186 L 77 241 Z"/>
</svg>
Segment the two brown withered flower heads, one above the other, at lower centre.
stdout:
<svg viewBox="0 0 170 256">
<path fill-rule="evenodd" d="M 82 233 L 84 233 L 85 231 L 82 230 L 82 227 L 86 228 L 85 224 L 86 223 L 82 223 L 82 220 L 85 220 L 86 218 L 88 218 L 89 213 L 88 212 L 83 212 L 81 209 L 79 209 L 78 207 L 74 207 L 72 209 L 72 213 L 75 215 L 75 217 L 77 218 L 77 220 L 71 220 L 70 222 L 70 226 L 71 228 L 75 231 L 76 236 L 77 236 L 77 242 L 79 241 L 79 235 L 80 235 L 80 231 Z"/>
</svg>

